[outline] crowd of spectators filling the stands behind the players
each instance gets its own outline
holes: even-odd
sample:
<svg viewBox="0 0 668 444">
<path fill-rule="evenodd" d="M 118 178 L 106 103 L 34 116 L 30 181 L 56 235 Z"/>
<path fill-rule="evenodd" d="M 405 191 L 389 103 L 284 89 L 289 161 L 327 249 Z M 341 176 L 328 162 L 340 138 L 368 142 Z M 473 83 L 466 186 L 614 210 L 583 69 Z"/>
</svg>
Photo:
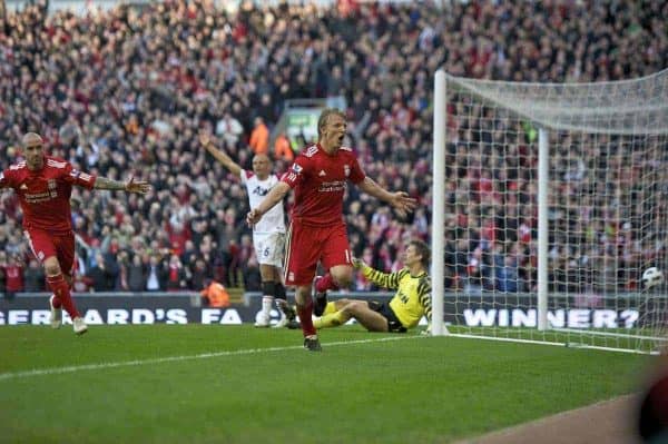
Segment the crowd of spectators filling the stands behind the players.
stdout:
<svg viewBox="0 0 668 444">
<path fill-rule="evenodd" d="M 199 290 L 209 279 L 257 289 L 245 191 L 207 158 L 197 134 L 215 132 L 250 168 L 253 152 L 267 149 L 266 131 L 286 99 L 343 96 L 346 142 L 363 168 L 421 203 L 400 219 L 354 187 L 347 194 L 354 254 L 376 268 L 396 269 L 405 239 L 429 238 L 438 67 L 485 79 L 583 82 L 654 73 L 668 60 L 668 29 L 660 19 L 668 17 L 668 3 L 448 3 L 342 1 L 317 9 L 243 2 L 229 13 L 208 0 L 165 1 L 76 16 L 48 13 L 37 1 L 8 11 L 0 21 L 0 167 L 20 159 L 17 144 L 35 130 L 50 154 L 76 168 L 115 179 L 131 172 L 153 185 L 146 196 L 73 191 L 78 290 Z M 472 117 L 451 129 L 446 285 L 531 290 L 534 141 L 485 140 L 484 110 L 450 109 L 459 111 Z M 276 159 L 276 170 L 288 161 Z M 596 161 L 605 171 L 612 160 Z M 553 162 L 560 167 L 561 159 Z M 0 284 L 11 292 L 42 289 L 21 237 L 17 197 L 3 193 L 0 199 Z M 559 205 L 581 213 L 588 203 Z M 553 213 L 556 224 L 570 224 L 570 216 Z M 625 223 L 631 223 L 626 216 L 581 219 L 588 225 L 578 233 L 623 237 Z M 568 282 L 569 264 L 581 263 L 588 251 L 559 248 L 551 251 L 552 276 L 563 272 Z M 625 256 L 623 247 L 606 251 L 612 264 Z M 370 288 L 362 278 L 355 286 Z"/>
</svg>

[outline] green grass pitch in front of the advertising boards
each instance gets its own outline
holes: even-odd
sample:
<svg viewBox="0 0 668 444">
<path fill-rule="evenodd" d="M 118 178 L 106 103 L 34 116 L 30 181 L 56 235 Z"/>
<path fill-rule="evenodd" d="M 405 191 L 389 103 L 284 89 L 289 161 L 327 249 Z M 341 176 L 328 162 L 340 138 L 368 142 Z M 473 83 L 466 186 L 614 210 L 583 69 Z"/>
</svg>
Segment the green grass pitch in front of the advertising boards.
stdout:
<svg viewBox="0 0 668 444">
<path fill-rule="evenodd" d="M 652 357 L 244 326 L 0 328 L 0 442 L 448 443 L 639 389 Z"/>
</svg>

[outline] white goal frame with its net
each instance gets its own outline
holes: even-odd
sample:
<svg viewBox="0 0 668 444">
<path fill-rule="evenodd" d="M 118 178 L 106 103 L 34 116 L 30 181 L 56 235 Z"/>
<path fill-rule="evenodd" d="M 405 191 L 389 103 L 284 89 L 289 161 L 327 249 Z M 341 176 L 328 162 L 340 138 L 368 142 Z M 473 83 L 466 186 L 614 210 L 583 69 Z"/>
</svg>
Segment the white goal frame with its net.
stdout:
<svg viewBox="0 0 668 444">
<path fill-rule="evenodd" d="M 448 330 L 665 347 L 667 288 L 641 275 L 668 270 L 668 70 L 561 85 L 439 71 L 434 103 L 433 303 Z"/>
</svg>

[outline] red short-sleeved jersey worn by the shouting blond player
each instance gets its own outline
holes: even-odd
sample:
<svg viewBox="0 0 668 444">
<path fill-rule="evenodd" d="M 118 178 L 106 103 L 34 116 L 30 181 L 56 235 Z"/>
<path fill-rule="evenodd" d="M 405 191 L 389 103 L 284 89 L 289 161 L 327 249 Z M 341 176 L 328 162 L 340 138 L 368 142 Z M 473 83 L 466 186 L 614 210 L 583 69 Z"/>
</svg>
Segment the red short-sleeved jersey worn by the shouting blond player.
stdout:
<svg viewBox="0 0 668 444">
<path fill-rule="evenodd" d="M 320 145 L 302 150 L 281 180 L 295 190 L 293 220 L 316 227 L 343 223 L 343 195 L 347 180 L 360 184 L 366 175 L 351 148 L 335 155 Z"/>
</svg>

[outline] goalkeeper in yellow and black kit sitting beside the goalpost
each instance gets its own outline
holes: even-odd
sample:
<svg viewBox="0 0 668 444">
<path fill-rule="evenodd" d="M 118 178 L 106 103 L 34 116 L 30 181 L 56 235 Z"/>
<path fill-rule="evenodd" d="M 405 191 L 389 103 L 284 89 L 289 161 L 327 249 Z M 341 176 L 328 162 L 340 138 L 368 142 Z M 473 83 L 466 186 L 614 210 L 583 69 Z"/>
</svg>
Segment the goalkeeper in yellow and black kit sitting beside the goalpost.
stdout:
<svg viewBox="0 0 668 444">
<path fill-rule="evenodd" d="M 426 316 L 431 326 L 431 279 L 426 273 L 431 251 L 422 240 L 411 240 L 403 253 L 404 268 L 396 273 L 382 273 L 360 259 L 353 266 L 374 284 L 396 289 L 390 303 L 355 299 L 330 302 L 315 328 L 337 327 L 355 318 L 370 332 L 405 333 Z"/>
</svg>

